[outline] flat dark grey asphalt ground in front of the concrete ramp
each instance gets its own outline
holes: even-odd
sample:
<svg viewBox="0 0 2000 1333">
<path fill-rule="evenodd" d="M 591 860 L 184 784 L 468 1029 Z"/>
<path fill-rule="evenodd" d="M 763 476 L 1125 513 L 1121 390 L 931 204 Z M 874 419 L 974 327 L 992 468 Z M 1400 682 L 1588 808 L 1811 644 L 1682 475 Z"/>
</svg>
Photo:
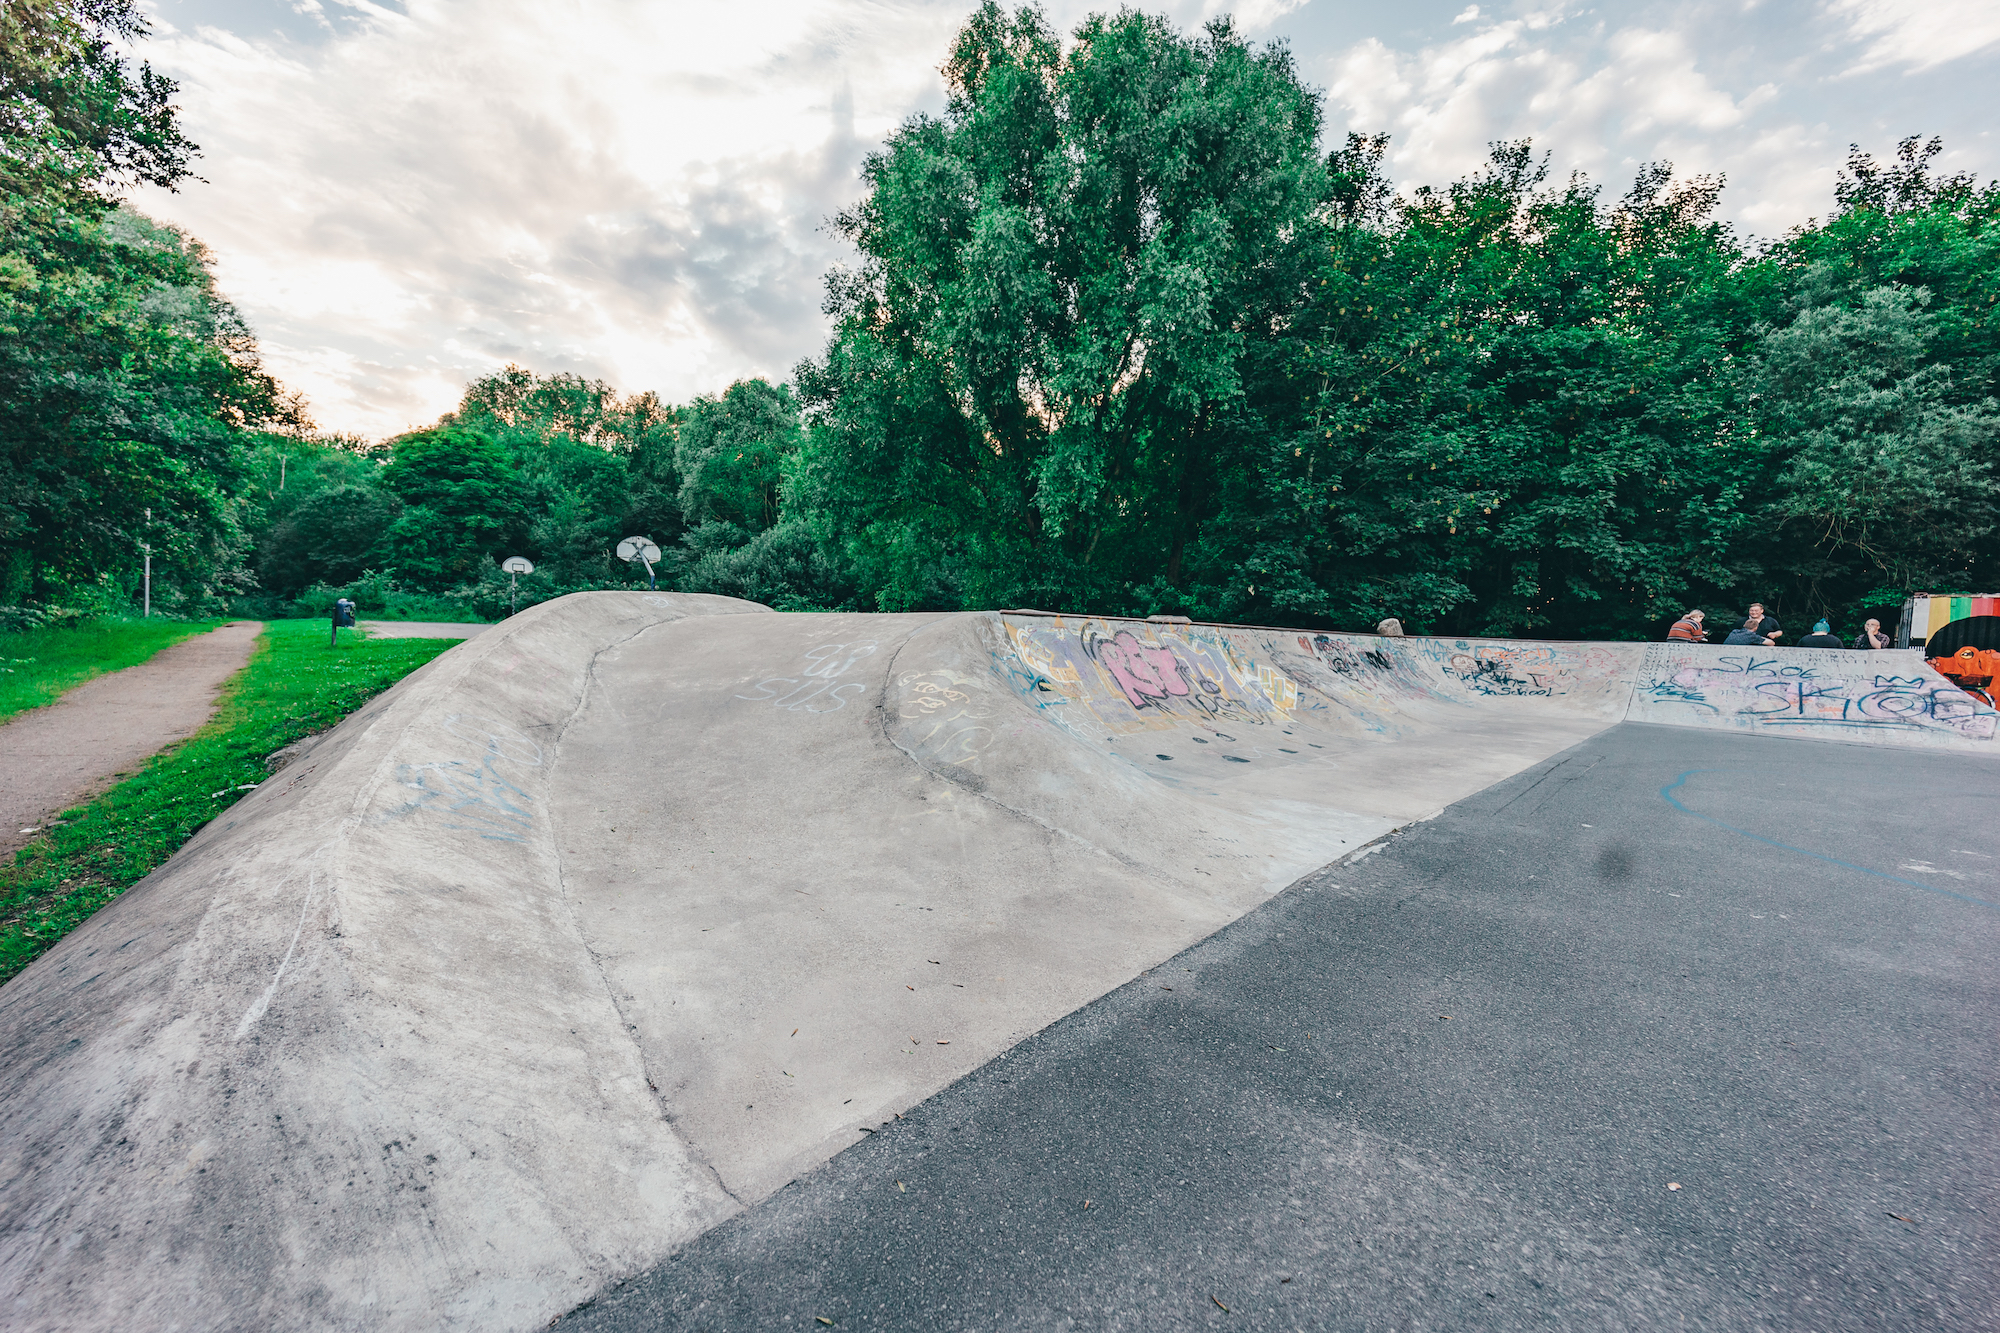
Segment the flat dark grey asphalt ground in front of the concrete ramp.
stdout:
<svg viewBox="0 0 2000 1333">
<path fill-rule="evenodd" d="M 1988 1333 L 1996 797 L 1614 727 L 554 1327 Z"/>
</svg>

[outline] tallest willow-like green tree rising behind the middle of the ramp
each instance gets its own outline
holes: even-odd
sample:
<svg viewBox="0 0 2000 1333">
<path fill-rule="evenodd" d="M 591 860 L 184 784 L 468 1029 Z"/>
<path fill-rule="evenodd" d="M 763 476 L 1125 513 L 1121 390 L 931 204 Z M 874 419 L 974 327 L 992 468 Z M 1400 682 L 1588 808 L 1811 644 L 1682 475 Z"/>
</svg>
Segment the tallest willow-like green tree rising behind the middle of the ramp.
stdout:
<svg viewBox="0 0 2000 1333">
<path fill-rule="evenodd" d="M 838 220 L 794 508 L 884 608 L 1180 600 L 1268 450 L 1322 250 L 1320 106 L 1282 46 L 1142 14 L 1064 46 L 982 6 Z"/>
</svg>

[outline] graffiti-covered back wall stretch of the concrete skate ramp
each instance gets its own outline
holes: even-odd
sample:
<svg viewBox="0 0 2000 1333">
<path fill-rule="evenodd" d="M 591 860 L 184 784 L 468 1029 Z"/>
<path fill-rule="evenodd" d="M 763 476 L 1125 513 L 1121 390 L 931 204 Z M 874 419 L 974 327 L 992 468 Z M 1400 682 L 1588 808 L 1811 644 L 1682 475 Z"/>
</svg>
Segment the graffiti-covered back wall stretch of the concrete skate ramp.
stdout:
<svg viewBox="0 0 2000 1333">
<path fill-rule="evenodd" d="M 2000 733 L 2000 713 L 1914 652 L 1376 638 L 1064 616 L 1002 628 L 992 673 L 1044 721 L 1088 741 L 1308 717 L 1398 735 L 1448 725 L 1468 707 L 1538 703 L 1604 721 L 1836 739 L 1846 729 L 1904 745 L 1992 743 Z"/>
</svg>

